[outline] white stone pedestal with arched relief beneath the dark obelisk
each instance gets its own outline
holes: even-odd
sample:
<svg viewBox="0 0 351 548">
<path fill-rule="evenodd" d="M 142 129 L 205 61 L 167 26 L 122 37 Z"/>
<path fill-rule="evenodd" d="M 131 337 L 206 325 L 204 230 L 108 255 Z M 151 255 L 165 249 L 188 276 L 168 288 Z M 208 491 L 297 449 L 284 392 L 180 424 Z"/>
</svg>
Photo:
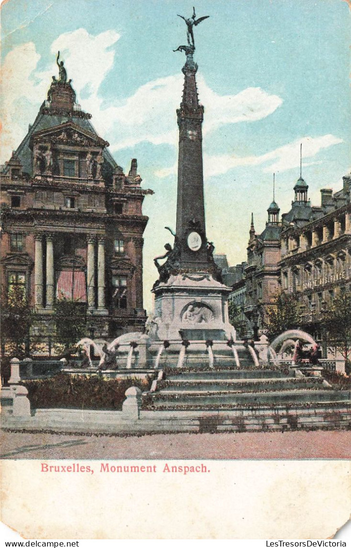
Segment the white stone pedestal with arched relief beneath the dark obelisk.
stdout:
<svg viewBox="0 0 351 548">
<path fill-rule="evenodd" d="M 230 292 L 206 272 L 170 276 L 153 289 L 155 335 L 172 341 L 235 339 L 228 318 Z"/>
</svg>

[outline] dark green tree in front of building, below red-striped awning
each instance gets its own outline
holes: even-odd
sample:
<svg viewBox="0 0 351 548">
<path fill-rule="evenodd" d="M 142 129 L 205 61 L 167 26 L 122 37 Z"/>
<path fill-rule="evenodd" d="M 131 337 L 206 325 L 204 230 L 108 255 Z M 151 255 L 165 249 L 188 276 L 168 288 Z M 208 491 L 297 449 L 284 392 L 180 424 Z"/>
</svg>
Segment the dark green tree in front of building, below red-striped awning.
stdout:
<svg viewBox="0 0 351 548">
<path fill-rule="evenodd" d="M 87 334 L 87 304 L 60 299 L 54 305 L 56 340 L 65 349 L 78 343 Z"/>
</svg>

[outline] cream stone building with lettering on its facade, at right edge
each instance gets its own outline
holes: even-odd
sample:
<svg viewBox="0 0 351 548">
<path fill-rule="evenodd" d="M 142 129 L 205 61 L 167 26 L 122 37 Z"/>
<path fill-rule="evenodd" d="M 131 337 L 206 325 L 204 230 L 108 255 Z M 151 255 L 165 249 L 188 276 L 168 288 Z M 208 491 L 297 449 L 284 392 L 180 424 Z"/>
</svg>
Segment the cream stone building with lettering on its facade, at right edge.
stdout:
<svg viewBox="0 0 351 548">
<path fill-rule="evenodd" d="M 304 327 L 323 345 L 326 342 L 323 311 L 341 293 L 351 292 L 351 174 L 343 177 L 342 190 L 322 189 L 320 207 L 310 208 L 309 219 L 287 214 L 289 225 L 281 232 L 281 287 L 296 295 Z M 300 198 L 307 208 L 306 196 Z M 290 212 L 291 213 L 291 212 Z M 299 222 L 300 221 L 300 222 Z"/>
</svg>

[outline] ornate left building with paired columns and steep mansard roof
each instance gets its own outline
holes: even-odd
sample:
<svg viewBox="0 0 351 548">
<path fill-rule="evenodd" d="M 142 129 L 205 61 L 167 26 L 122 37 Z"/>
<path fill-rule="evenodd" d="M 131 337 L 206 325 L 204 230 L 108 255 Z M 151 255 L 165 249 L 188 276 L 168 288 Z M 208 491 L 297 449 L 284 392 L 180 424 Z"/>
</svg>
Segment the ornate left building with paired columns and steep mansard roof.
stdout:
<svg viewBox="0 0 351 548">
<path fill-rule="evenodd" d="M 38 321 L 32 334 L 54 336 L 54 302 L 87 306 L 88 336 L 143 330 L 142 202 L 136 159 L 128 174 L 80 109 L 66 72 L 1 170 L 3 310 L 22 288 Z"/>
</svg>

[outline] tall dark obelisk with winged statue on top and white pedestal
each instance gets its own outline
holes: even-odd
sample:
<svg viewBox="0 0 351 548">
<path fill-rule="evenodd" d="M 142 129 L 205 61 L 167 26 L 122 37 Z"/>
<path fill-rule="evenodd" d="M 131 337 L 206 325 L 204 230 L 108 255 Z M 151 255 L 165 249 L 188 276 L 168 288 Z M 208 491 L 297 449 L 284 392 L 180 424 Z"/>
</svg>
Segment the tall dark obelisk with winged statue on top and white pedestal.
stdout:
<svg viewBox="0 0 351 548">
<path fill-rule="evenodd" d="M 187 45 L 174 51 L 184 52 L 182 68 L 184 88 L 180 108 L 177 181 L 176 232 L 174 247 L 156 257 L 159 279 L 153 286 L 154 323 L 161 340 L 214 340 L 231 338 L 228 320 L 228 294 L 221 283 L 221 272 L 212 256 L 214 246 L 206 239 L 202 123 L 204 107 L 199 103 L 195 75 L 198 70 L 193 26 L 207 19 L 196 19 L 195 10 L 187 25 Z M 165 260 L 160 264 L 160 260 Z"/>
</svg>

